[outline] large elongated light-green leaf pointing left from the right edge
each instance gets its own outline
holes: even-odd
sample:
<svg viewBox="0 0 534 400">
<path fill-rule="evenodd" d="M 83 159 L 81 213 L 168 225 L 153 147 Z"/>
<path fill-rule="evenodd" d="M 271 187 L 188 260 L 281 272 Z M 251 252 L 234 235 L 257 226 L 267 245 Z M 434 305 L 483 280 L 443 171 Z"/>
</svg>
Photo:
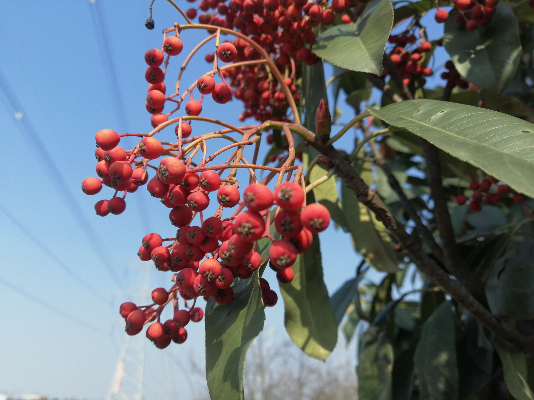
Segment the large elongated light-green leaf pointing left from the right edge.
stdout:
<svg viewBox="0 0 534 400">
<path fill-rule="evenodd" d="M 497 111 L 437 100 L 407 100 L 380 110 L 390 125 L 425 138 L 520 193 L 534 196 L 534 125 Z"/>
</svg>

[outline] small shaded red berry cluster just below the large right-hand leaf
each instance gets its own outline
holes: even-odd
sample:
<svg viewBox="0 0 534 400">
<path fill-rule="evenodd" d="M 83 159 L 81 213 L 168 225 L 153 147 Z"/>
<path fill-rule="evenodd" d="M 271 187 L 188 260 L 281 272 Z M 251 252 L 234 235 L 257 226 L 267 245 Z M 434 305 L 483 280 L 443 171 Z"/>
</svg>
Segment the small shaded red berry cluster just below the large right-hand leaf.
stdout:
<svg viewBox="0 0 534 400">
<path fill-rule="evenodd" d="M 490 193 L 492 186 L 496 186 L 496 191 Z M 509 197 L 512 195 L 512 199 L 515 203 L 521 204 L 525 200 L 525 195 L 521 193 L 514 193 L 514 191 L 504 183 L 499 183 L 497 178 L 489 177 L 482 182 L 472 181 L 469 183 L 469 189 L 474 190 L 474 193 L 470 197 L 469 201 L 469 210 L 471 211 L 480 211 L 482 210 L 482 201 L 485 201 L 486 204 L 493 204 L 500 202 L 503 198 Z M 467 203 L 467 197 L 464 195 L 459 195 L 453 197 L 453 201 L 458 205 Z"/>
</svg>

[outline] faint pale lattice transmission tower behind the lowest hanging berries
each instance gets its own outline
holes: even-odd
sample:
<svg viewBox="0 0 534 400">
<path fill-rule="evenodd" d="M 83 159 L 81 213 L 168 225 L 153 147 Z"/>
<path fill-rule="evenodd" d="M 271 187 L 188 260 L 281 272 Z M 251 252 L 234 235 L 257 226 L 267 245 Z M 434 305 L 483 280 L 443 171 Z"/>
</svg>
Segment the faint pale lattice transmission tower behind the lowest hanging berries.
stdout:
<svg viewBox="0 0 534 400">
<path fill-rule="evenodd" d="M 119 294 L 133 294 L 137 305 L 144 304 L 150 294 L 150 272 L 150 266 L 141 266 L 135 292 L 120 292 Z M 143 400 L 146 342 L 144 339 L 144 335 L 124 334 L 121 352 L 109 384 L 106 400 Z"/>
</svg>

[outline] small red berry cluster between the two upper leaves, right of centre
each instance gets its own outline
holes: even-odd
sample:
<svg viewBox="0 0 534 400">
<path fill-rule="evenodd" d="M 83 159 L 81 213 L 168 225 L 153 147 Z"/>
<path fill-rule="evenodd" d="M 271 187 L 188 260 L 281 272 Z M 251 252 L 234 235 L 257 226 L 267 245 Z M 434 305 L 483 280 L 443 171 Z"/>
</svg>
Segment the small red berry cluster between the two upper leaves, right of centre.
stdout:
<svg viewBox="0 0 534 400">
<path fill-rule="evenodd" d="M 389 43 L 394 43 L 395 47 L 390 51 L 389 58 L 397 67 L 403 77 L 403 83 L 407 86 L 413 81 L 415 76 L 431 76 L 432 70 L 425 67 L 427 53 L 432 50 L 432 44 L 423 41 L 412 50 L 407 50 L 409 44 L 417 41 L 414 35 L 391 35 Z"/>
</svg>

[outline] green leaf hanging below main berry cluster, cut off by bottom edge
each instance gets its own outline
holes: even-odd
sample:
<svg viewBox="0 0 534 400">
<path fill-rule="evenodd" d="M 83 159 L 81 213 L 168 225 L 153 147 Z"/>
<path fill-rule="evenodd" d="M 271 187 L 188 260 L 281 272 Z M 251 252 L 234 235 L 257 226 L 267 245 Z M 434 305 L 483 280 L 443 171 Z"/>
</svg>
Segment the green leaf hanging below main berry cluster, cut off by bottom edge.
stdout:
<svg viewBox="0 0 534 400">
<path fill-rule="evenodd" d="M 232 287 L 234 300 L 206 305 L 206 378 L 211 400 L 243 399 L 245 356 L 263 329 L 260 276 L 256 271 Z"/>
</svg>

